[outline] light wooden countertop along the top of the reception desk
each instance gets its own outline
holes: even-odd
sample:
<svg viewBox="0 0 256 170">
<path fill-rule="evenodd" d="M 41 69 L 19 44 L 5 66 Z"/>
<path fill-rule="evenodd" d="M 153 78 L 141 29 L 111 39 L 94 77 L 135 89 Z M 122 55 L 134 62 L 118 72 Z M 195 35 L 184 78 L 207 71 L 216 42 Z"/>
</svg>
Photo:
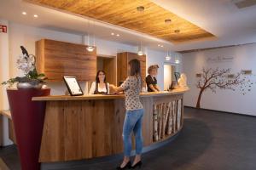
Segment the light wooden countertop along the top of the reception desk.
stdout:
<svg viewBox="0 0 256 170">
<path fill-rule="evenodd" d="M 177 88 L 173 89 L 171 92 L 161 91 L 161 92 L 150 92 L 141 93 L 140 96 L 153 97 L 153 96 L 164 96 L 164 95 L 174 95 L 183 94 L 187 92 L 189 88 Z M 69 95 L 49 95 L 44 97 L 33 97 L 33 101 L 54 101 L 54 100 L 86 100 L 86 99 L 123 99 L 124 94 L 114 94 L 114 95 L 102 95 L 102 94 L 92 94 L 92 95 L 82 95 L 82 96 L 69 96 Z"/>
</svg>

